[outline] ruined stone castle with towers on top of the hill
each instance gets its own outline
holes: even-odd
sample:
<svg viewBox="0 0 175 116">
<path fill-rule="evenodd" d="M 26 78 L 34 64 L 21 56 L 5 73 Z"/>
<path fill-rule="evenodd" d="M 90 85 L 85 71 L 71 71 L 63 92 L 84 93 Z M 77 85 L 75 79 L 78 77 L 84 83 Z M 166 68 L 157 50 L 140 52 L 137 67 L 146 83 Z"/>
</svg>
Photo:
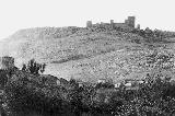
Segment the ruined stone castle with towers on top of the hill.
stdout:
<svg viewBox="0 0 175 116">
<path fill-rule="evenodd" d="M 110 23 L 101 22 L 101 23 L 92 24 L 92 21 L 88 21 L 86 22 L 86 27 L 92 27 L 92 26 L 95 26 L 95 25 L 100 25 L 100 26 L 101 25 L 109 25 L 112 27 L 124 27 L 124 28 L 131 27 L 131 28 L 135 28 L 135 21 L 136 21 L 135 16 L 128 16 L 128 19 L 125 20 L 124 23 L 115 23 L 114 20 L 110 20 Z"/>
</svg>

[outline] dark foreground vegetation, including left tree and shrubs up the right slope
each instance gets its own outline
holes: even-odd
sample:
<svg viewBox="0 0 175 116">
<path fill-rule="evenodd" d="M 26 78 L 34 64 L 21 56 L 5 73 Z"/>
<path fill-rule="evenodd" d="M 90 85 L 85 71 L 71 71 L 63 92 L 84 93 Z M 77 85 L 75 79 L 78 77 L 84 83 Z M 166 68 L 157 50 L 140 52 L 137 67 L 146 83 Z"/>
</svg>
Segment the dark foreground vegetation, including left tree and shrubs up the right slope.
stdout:
<svg viewBox="0 0 175 116">
<path fill-rule="evenodd" d="M 31 60 L 23 70 L 9 70 L 1 74 L 8 78 L 2 96 L 1 109 L 9 116 L 171 116 L 175 114 L 175 82 L 161 76 L 164 70 L 174 70 L 174 55 L 149 55 L 147 63 L 153 70 L 147 83 L 138 89 L 113 84 L 93 85 L 75 80 L 63 84 L 46 84 L 40 77 L 40 67 Z"/>
</svg>

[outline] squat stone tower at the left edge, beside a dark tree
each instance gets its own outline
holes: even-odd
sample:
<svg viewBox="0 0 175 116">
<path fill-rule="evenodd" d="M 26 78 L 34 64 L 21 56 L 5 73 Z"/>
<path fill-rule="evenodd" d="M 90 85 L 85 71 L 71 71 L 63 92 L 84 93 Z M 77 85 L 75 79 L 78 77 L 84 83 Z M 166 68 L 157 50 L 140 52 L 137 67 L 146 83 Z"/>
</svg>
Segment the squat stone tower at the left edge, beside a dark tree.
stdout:
<svg viewBox="0 0 175 116">
<path fill-rule="evenodd" d="M 9 56 L 0 57 L 1 70 L 12 69 L 12 68 L 14 68 L 14 58 Z"/>
</svg>

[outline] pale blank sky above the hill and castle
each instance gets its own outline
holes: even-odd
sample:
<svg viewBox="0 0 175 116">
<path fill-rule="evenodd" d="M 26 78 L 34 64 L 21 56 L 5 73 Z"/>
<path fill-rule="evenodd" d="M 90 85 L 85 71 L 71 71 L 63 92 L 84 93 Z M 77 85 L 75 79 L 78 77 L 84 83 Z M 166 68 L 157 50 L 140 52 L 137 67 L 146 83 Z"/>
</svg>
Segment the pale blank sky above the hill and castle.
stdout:
<svg viewBox="0 0 175 116">
<path fill-rule="evenodd" d="M 174 0 L 0 0 L 0 39 L 21 28 L 85 26 L 86 21 L 124 22 L 175 31 Z"/>
</svg>

